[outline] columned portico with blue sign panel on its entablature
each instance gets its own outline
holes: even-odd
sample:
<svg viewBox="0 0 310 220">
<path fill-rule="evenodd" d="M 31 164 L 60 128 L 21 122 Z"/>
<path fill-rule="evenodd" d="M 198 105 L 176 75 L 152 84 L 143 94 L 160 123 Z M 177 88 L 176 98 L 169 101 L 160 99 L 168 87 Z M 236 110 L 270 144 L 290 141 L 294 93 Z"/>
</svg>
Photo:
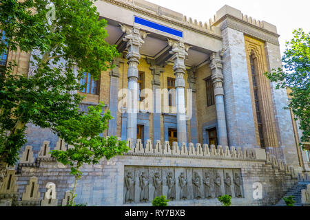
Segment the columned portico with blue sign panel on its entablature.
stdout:
<svg viewBox="0 0 310 220">
<path fill-rule="evenodd" d="M 114 17 L 114 14 L 118 14 L 116 12 L 121 10 L 119 7 L 105 1 L 99 1 L 97 4 L 100 14 L 107 20 L 106 30 L 109 36 L 106 41 L 117 45 L 118 51 L 123 53 L 123 58 L 126 59 L 123 61 L 123 65 L 127 63 L 126 67 L 123 67 L 123 77 L 127 78 L 127 80 L 123 79 L 123 88 L 126 88 L 127 85 L 128 91 L 130 91 L 125 98 L 126 103 L 123 105 L 123 111 L 126 114 L 124 116 L 124 113 L 119 115 L 114 112 L 117 117 L 121 116 L 117 120 L 123 120 L 124 117 L 126 120 L 126 127 L 121 129 L 120 136 L 125 140 L 130 138 L 133 143 L 136 143 L 136 132 L 139 125 L 137 114 L 147 112 L 150 115 L 149 137 L 153 137 L 154 144 L 156 140 L 168 141 L 166 139 L 168 135 L 165 132 L 169 129 L 163 129 L 164 127 L 177 130 L 179 144 L 187 145 L 193 140 L 198 142 L 198 133 L 203 133 L 203 131 L 198 127 L 196 120 L 197 94 L 196 89 L 193 89 L 192 86 L 196 82 L 189 80 L 189 77 L 195 77 L 196 73 L 192 71 L 193 69 L 207 66 L 210 72 L 214 72 L 212 74 L 214 75 L 213 83 L 216 85 L 214 94 L 216 97 L 218 96 L 216 109 L 214 109 L 218 116 L 216 125 L 219 135 L 218 144 L 227 146 L 223 74 L 219 74 L 218 61 L 216 61 L 216 65 L 210 65 L 211 61 L 214 61 L 214 59 L 212 60 L 213 54 L 218 54 L 222 50 L 218 30 L 216 28 L 211 30 L 207 24 L 205 27 L 197 25 L 194 28 L 185 22 L 165 22 L 167 21 L 167 19 L 163 19 L 165 17 L 147 17 L 131 10 L 122 10 L 124 16 Z M 175 15 L 180 16 L 179 14 Z M 180 16 L 180 19 L 183 17 Z M 145 63 L 147 63 L 147 70 Z M 189 72 L 191 76 L 188 75 Z M 142 84 L 138 84 L 139 73 L 143 74 Z M 167 89 L 165 74 L 172 76 L 170 78 L 174 80 L 175 90 L 169 90 L 169 94 L 172 94 L 170 96 L 164 92 L 164 89 Z M 222 85 L 219 82 L 222 82 Z M 110 91 L 114 91 L 115 88 L 112 87 L 116 85 L 111 84 L 110 86 Z M 122 88 L 118 85 L 118 89 Z M 150 109 L 141 111 L 139 108 L 141 101 L 139 101 L 138 95 L 141 94 L 142 89 L 152 89 L 153 91 L 152 111 Z M 158 89 L 161 89 L 160 96 L 156 95 Z M 192 89 L 191 96 L 189 96 L 188 89 Z M 114 97 L 116 98 L 115 94 Z M 173 104 L 164 107 L 165 102 L 169 102 L 169 97 L 173 97 L 171 101 Z M 111 98 L 112 96 L 110 96 Z M 110 102 L 111 104 L 116 105 L 116 102 Z M 110 106 L 110 109 L 117 111 L 118 108 Z M 169 112 L 165 112 L 165 109 L 169 109 Z M 169 125 L 171 123 L 165 124 L 163 113 L 169 113 L 172 124 L 175 123 L 176 126 Z M 125 126 L 125 123 L 121 122 L 121 124 Z"/>
</svg>

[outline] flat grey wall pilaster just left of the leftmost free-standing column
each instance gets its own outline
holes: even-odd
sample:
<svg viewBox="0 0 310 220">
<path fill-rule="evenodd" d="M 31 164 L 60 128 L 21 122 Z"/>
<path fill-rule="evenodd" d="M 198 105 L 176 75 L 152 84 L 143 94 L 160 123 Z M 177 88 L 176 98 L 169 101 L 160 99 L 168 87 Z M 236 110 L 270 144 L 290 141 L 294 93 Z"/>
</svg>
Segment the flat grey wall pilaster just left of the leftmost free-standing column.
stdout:
<svg viewBox="0 0 310 220">
<path fill-rule="evenodd" d="M 113 117 L 109 122 L 109 129 L 107 135 L 116 136 L 117 135 L 117 102 L 118 102 L 118 78 L 119 78 L 119 67 L 123 63 L 123 58 L 116 57 L 113 59 L 114 69 L 111 70 L 111 83 L 110 83 L 110 111 Z"/>
</svg>

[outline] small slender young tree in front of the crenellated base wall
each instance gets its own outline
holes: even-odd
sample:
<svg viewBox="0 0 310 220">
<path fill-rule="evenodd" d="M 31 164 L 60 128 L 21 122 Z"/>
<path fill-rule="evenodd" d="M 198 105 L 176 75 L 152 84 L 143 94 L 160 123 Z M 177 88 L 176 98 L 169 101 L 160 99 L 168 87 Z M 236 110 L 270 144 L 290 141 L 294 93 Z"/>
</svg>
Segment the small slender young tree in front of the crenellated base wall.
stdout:
<svg viewBox="0 0 310 220">
<path fill-rule="evenodd" d="M 107 129 L 107 123 L 112 119 L 110 112 L 101 115 L 104 104 L 89 107 L 89 112 L 82 115 L 79 120 L 70 118 L 64 120 L 58 131 L 68 136 L 67 144 L 72 147 L 67 151 L 52 151 L 52 156 L 63 165 L 70 165 L 70 174 L 74 175 L 74 186 L 70 204 L 74 206 L 76 181 L 83 174 L 80 170 L 83 164 L 99 164 L 100 159 L 111 159 L 122 155 L 130 148 L 126 142 L 118 142 L 116 137 L 102 137 L 101 133 Z"/>
</svg>

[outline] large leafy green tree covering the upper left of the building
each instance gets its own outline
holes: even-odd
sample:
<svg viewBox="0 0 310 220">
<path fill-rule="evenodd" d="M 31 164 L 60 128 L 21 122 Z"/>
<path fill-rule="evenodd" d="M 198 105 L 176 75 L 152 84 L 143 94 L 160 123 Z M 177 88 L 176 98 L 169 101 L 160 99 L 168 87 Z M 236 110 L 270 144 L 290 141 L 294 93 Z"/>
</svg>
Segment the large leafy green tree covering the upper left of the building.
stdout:
<svg viewBox="0 0 310 220">
<path fill-rule="evenodd" d="M 29 74 L 12 74 L 17 64 L 10 62 L 0 75 L 0 162 L 17 162 L 28 123 L 70 142 L 63 123 L 83 120 L 78 111 L 83 97 L 72 91 L 82 89 L 83 72 L 97 79 L 119 55 L 104 40 L 106 23 L 92 0 L 1 2 L 0 30 L 6 39 L 1 34 L 0 53 L 32 52 L 32 61 Z"/>
</svg>

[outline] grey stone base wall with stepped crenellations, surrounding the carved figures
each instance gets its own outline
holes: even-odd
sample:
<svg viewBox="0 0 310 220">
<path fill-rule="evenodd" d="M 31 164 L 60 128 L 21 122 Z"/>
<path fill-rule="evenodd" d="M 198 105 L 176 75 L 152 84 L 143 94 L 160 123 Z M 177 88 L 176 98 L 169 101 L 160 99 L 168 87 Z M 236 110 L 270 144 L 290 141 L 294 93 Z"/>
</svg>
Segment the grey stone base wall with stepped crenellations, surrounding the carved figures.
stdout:
<svg viewBox="0 0 310 220">
<path fill-rule="evenodd" d="M 154 174 L 156 172 L 159 173 L 158 180 L 163 180 L 159 186 L 163 195 L 168 196 L 167 174 L 169 171 L 173 173 L 176 179 L 176 198 L 169 202 L 169 206 L 219 206 L 220 203 L 215 198 L 214 177 L 216 177 L 216 173 L 220 175 L 221 195 L 225 194 L 224 181 L 227 179 L 228 173 L 231 180 L 233 206 L 276 203 L 297 181 L 293 168 L 284 164 L 282 160 L 270 156 L 269 153 L 265 153 L 265 150 L 260 148 L 241 151 L 241 148 L 236 150 L 234 147 L 223 149 L 221 146 L 216 148 L 205 144 L 201 147 L 200 144 L 197 144 L 194 147 L 194 144 L 189 144 L 188 148 L 181 146 L 177 150 L 176 146 L 176 142 L 172 147 L 165 143 L 166 148 L 164 148 L 161 147 L 160 142 L 157 142 L 156 146 L 153 147 L 152 142 L 148 140 L 146 148 L 143 148 L 138 140 L 136 147 L 131 146 L 132 150 L 123 156 L 114 157 L 110 161 L 103 159 L 100 164 L 83 166 L 81 169 L 83 176 L 76 186 L 76 203 L 87 203 L 89 206 L 149 206 L 154 197 Z M 59 148 L 59 146 L 56 147 Z M 68 191 L 72 190 L 74 177 L 70 175 L 69 167 L 59 164 L 49 156 L 46 153 L 45 155 L 41 154 L 34 160 L 35 162 L 19 164 L 16 174 L 15 170 L 10 171 L 14 174 L 10 184 L 12 185 L 12 179 L 15 179 L 16 186 L 11 187 L 12 190 L 9 192 L 3 190 L 8 186 L 8 179 L 5 180 L 3 189 L 0 190 L 1 203 L 4 203 L 3 198 L 6 197 L 6 201 L 10 201 L 8 198 L 13 198 L 12 195 L 14 195 L 14 199 L 11 199 L 11 204 L 14 206 L 39 206 L 40 203 L 44 206 L 52 206 L 56 203 L 60 205 L 63 202 L 62 199 L 65 199 L 65 195 L 68 197 Z M 136 179 L 134 201 L 131 203 L 125 202 L 127 192 L 125 177 L 129 170 L 133 170 Z M 139 178 L 142 171 L 145 172 L 149 184 L 147 185 L 148 197 L 141 202 Z M 206 198 L 206 191 L 203 187 L 206 171 L 209 172 L 211 179 L 210 198 Z M 187 198 L 183 200 L 180 200 L 180 173 L 185 173 L 187 179 Z M 237 196 L 235 192 L 235 173 L 240 176 L 241 197 Z M 193 177 L 197 175 L 199 176 L 197 178 L 200 179 L 200 192 L 194 192 L 193 187 Z M 37 179 L 33 177 L 37 177 Z M 29 189 L 27 190 L 27 188 L 31 188 L 30 182 L 34 182 L 33 186 L 38 185 L 37 190 L 40 199 L 23 199 L 23 193 L 30 193 Z M 55 184 L 56 199 L 58 200 L 44 200 L 45 195 L 43 193 L 47 192 L 48 183 Z M 253 197 L 255 183 L 260 183 L 262 186 L 262 199 L 254 199 Z M 201 196 L 198 197 L 197 193 Z M 42 201 L 40 202 L 40 200 Z"/>
</svg>

